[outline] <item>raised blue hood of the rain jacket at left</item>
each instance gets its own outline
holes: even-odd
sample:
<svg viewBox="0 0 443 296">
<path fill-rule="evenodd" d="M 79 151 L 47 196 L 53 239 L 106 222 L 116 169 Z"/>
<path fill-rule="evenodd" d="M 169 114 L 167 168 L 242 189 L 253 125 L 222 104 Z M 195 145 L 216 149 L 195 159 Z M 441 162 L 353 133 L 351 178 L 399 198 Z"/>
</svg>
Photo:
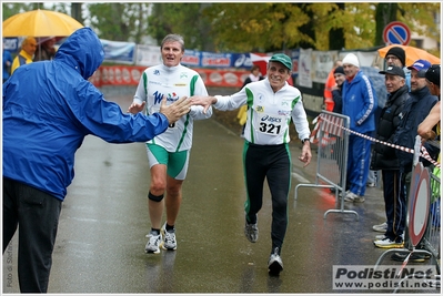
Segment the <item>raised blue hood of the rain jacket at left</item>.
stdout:
<svg viewBox="0 0 443 296">
<path fill-rule="evenodd" d="M 54 59 L 72 65 L 84 79 L 89 79 L 103 62 L 103 45 L 91 28 L 81 28 L 61 44 Z"/>
</svg>

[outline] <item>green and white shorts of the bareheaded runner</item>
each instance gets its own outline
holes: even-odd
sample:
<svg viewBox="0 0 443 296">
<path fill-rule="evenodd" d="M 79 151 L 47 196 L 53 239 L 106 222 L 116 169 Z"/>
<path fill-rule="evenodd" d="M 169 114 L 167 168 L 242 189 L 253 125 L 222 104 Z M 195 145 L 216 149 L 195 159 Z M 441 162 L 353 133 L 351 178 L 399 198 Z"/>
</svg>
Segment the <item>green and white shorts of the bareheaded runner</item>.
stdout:
<svg viewBox="0 0 443 296">
<path fill-rule="evenodd" d="M 189 150 L 168 152 L 157 144 L 147 144 L 149 166 L 164 164 L 168 166 L 168 175 L 177 180 L 184 180 L 188 173 Z"/>
</svg>

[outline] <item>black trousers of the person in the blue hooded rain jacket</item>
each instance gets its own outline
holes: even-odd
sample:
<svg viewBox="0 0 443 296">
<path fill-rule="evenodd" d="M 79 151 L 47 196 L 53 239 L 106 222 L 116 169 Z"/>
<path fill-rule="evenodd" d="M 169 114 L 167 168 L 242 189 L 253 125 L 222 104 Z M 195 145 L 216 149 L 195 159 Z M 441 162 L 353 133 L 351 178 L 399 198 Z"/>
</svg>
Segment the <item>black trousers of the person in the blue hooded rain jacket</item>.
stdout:
<svg viewBox="0 0 443 296">
<path fill-rule="evenodd" d="M 21 293 L 47 293 L 61 201 L 3 177 L 3 253 L 19 227 Z"/>
</svg>

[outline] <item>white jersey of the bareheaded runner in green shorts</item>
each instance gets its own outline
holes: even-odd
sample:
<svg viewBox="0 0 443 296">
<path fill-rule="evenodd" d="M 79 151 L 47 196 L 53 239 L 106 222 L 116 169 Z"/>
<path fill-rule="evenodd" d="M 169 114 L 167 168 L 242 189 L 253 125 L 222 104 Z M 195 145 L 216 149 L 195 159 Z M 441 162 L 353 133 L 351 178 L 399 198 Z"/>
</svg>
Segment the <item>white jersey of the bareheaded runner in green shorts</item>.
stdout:
<svg viewBox="0 0 443 296">
<path fill-rule="evenodd" d="M 147 102 L 147 114 L 160 111 L 161 100 L 167 96 L 168 104 L 181 96 L 208 95 L 207 88 L 199 73 L 181 64 L 165 67 L 159 64 L 143 71 L 133 98 L 134 103 Z M 208 119 L 212 109 L 203 113 L 202 106 L 191 106 L 191 112 L 170 124 L 168 130 L 149 141 L 164 147 L 168 152 L 190 150 L 192 146 L 193 121 Z"/>
</svg>

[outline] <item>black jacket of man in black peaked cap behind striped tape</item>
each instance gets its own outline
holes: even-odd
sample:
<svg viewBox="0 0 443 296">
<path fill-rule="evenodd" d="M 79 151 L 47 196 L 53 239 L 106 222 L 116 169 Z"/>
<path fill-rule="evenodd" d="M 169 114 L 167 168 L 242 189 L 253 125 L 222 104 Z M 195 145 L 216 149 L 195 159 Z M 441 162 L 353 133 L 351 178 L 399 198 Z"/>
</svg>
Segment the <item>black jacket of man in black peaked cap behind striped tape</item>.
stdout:
<svg viewBox="0 0 443 296">
<path fill-rule="evenodd" d="M 380 141 L 393 143 L 394 134 L 400 125 L 400 113 L 409 99 L 407 85 L 391 93 L 385 106 L 381 111 L 375 137 Z M 371 170 L 399 170 L 395 149 L 386 144 L 375 143 L 372 149 Z"/>
</svg>

